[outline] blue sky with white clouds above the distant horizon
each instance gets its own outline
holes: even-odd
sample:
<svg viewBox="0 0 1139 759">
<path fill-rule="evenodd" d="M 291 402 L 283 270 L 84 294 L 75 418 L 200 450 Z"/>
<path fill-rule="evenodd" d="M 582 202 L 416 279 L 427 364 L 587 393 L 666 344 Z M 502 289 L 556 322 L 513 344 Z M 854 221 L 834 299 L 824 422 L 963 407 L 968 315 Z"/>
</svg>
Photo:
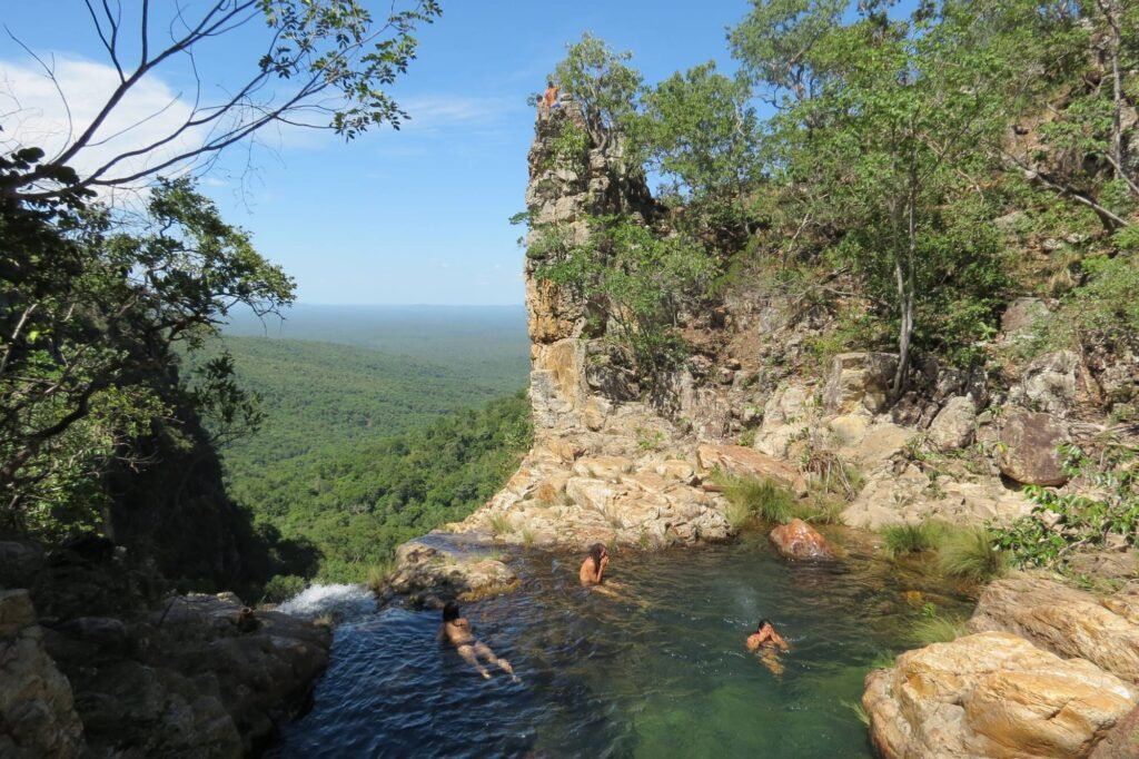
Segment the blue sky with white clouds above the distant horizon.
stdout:
<svg viewBox="0 0 1139 759">
<path fill-rule="evenodd" d="M 401 131 L 385 128 L 349 144 L 333 134 L 268 134 L 273 149 L 255 150 L 252 171 L 247 153 L 235 150 L 205 180 L 226 218 L 251 230 L 257 250 L 296 278 L 302 302 L 522 303 L 521 230 L 507 219 L 524 207 L 528 96 L 542 89 L 566 43 L 590 31 L 632 51 L 649 82 L 711 58 L 732 68 L 726 27 L 751 7 L 746 0 L 442 3 L 442 18 L 419 33 L 419 59 L 393 90 L 412 116 Z M 83 64 L 72 67 L 76 76 L 106 64 L 81 0 L 6 2 L 0 22 L 35 52 Z M 239 36 L 220 40 L 210 52 L 212 71 L 252 65 L 249 49 Z M 27 71 L 26 54 L 0 38 L 0 97 Z M 162 76 L 169 91 L 183 91 L 179 72 Z M 0 106 L 11 109 L 10 101 Z M 0 119 L 10 136 L 11 119 Z"/>
</svg>

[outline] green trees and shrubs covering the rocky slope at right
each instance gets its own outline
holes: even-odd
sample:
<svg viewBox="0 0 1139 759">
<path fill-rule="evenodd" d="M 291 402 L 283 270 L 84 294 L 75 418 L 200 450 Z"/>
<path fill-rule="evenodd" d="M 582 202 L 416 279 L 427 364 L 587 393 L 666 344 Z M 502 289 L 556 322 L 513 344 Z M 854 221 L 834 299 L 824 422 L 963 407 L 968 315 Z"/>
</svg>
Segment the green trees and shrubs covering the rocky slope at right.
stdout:
<svg viewBox="0 0 1139 759">
<path fill-rule="evenodd" d="M 595 147 L 620 132 L 626 170 L 663 180 L 657 215 L 621 225 L 698 240 L 710 270 L 737 284 L 762 276 L 810 295 L 839 317 L 830 350 L 893 342 L 898 395 L 915 352 L 988 360 L 1018 293 L 1067 294 L 1054 343 L 1065 330 L 1070 342 L 1117 341 L 1130 324 L 1118 283 L 1136 272 L 1139 166 L 1124 116 L 1139 92 L 1137 38 L 1139 14 L 1123 3 L 949 0 L 903 14 L 756 0 L 729 34 L 735 77 L 710 63 L 645 84 L 629 54 L 592 36 L 556 75 Z M 1015 225 L 993 223 L 1010 211 Z M 1063 256 L 1025 259 L 1043 238 L 1073 242 Z M 644 248 L 616 243 L 616 256 L 613 239 L 595 256 Z M 540 277 L 604 291 L 600 271 L 542 261 Z M 649 276 L 626 274 L 634 286 Z M 697 289 L 694 308 L 707 295 Z M 862 309 L 870 321 L 844 316 Z M 675 349 L 661 341 L 662 354 Z"/>
</svg>

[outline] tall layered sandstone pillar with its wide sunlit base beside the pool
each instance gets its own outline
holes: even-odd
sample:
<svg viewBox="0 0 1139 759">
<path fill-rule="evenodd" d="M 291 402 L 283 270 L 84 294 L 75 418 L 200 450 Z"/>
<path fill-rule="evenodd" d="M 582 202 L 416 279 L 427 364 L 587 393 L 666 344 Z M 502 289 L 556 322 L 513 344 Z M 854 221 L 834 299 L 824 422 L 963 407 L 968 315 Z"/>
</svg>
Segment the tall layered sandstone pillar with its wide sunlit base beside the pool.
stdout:
<svg viewBox="0 0 1139 759">
<path fill-rule="evenodd" d="M 556 140 L 575 126 L 582 124 L 572 104 L 540 111 L 530 150 L 525 278 L 534 447 L 483 508 L 448 525 L 464 540 L 427 536 L 426 545 L 401 547 L 393 588 L 424 601 L 514 587 L 510 570 L 492 555 L 493 544 L 649 548 L 723 540 L 731 531 L 723 498 L 700 487 L 723 462 L 702 459 L 687 431 L 640 400 L 639 378 L 614 364 L 604 338 L 588 334 L 589 304 L 541 277 L 551 263 L 538 244 L 542 228 L 556 226 L 583 240 L 589 215 L 655 213 L 644 179 L 624 165 L 620 139 L 593 146 L 576 168 L 559 164 Z M 706 455 L 714 458 L 711 449 Z M 780 478 L 796 479 L 790 467 L 769 465 Z"/>
</svg>

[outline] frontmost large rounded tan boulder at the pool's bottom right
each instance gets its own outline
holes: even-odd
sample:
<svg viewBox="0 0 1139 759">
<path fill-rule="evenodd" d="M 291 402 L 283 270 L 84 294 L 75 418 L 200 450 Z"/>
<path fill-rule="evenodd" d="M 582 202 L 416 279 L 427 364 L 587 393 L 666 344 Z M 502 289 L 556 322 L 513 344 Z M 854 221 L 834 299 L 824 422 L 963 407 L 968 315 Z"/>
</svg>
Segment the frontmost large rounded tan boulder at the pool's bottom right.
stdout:
<svg viewBox="0 0 1139 759">
<path fill-rule="evenodd" d="M 1008 632 L 936 643 L 867 676 L 862 707 L 885 759 L 1087 757 L 1139 700 L 1134 686 Z"/>
</svg>

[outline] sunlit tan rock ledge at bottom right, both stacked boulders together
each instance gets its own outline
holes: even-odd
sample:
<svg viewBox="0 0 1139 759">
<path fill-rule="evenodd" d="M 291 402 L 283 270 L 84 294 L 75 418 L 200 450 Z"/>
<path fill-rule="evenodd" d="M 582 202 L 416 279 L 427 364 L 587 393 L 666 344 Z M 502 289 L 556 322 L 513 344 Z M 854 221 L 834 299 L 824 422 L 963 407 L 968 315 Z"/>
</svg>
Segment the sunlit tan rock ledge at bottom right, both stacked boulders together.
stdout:
<svg viewBox="0 0 1139 759">
<path fill-rule="evenodd" d="M 883 757 L 1139 756 L 1139 591 L 1017 574 L 984 590 L 969 629 L 867 677 Z"/>
</svg>

